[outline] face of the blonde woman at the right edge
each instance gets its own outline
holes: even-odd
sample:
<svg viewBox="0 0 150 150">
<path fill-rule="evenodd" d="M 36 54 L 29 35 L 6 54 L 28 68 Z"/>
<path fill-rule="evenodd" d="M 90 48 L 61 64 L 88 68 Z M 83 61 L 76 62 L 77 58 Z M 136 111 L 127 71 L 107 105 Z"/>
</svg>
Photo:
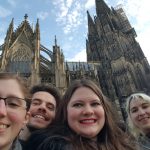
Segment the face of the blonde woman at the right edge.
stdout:
<svg viewBox="0 0 150 150">
<path fill-rule="evenodd" d="M 130 102 L 130 116 L 133 124 L 142 132 L 150 132 L 150 103 L 142 99 Z"/>
</svg>

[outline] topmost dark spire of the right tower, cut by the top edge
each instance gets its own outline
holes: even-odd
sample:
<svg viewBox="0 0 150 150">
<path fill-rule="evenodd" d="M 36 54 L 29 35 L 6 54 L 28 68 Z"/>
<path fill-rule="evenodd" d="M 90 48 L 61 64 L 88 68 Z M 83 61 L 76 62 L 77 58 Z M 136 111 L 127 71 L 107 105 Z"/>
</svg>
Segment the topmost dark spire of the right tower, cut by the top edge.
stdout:
<svg viewBox="0 0 150 150">
<path fill-rule="evenodd" d="M 97 16 L 100 16 L 101 14 L 107 14 L 111 11 L 104 0 L 95 0 L 95 4 Z"/>
</svg>

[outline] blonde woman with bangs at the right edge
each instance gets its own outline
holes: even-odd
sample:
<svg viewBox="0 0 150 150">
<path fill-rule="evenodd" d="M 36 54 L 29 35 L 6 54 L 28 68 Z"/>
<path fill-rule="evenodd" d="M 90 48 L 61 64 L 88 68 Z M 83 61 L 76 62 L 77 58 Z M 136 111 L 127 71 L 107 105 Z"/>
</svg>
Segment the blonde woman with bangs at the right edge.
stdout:
<svg viewBox="0 0 150 150">
<path fill-rule="evenodd" d="M 137 139 L 140 150 L 150 150 L 150 96 L 132 94 L 127 99 L 126 111 L 130 132 Z"/>
</svg>

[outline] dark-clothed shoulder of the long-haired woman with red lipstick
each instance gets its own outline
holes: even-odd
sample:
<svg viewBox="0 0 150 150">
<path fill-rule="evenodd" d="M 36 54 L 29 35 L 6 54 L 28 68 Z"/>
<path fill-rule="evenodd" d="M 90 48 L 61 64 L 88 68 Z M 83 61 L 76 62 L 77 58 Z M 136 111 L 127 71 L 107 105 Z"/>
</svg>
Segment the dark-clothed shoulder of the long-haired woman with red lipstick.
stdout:
<svg viewBox="0 0 150 150">
<path fill-rule="evenodd" d="M 38 150 L 67 150 L 69 142 L 62 136 L 51 136 L 46 138 L 38 147 Z"/>
</svg>

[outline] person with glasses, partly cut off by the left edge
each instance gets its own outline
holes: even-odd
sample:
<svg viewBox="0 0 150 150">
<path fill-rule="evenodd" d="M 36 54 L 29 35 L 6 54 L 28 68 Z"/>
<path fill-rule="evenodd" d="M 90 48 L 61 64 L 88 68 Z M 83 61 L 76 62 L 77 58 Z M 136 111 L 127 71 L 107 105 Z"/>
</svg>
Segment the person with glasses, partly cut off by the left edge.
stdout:
<svg viewBox="0 0 150 150">
<path fill-rule="evenodd" d="M 22 150 L 17 137 L 29 119 L 28 97 L 21 78 L 0 73 L 0 150 Z"/>
</svg>

